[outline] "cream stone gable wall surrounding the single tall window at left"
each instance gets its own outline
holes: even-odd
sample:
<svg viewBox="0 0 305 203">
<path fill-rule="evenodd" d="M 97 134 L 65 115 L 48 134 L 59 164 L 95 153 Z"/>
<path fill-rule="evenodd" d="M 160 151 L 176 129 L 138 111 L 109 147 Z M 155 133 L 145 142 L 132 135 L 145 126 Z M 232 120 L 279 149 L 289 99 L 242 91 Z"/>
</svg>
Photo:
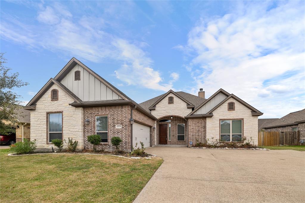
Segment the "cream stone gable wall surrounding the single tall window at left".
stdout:
<svg viewBox="0 0 305 203">
<path fill-rule="evenodd" d="M 51 101 L 52 89 L 58 90 L 57 101 Z M 36 103 L 36 110 L 31 111 L 30 139 L 36 139 L 38 150 L 52 150 L 52 146 L 54 148 L 54 145 L 47 144 L 46 140 L 46 113 L 56 111 L 63 111 L 63 138 L 73 138 L 78 141 L 77 149 L 83 148 L 83 108 L 70 106 L 69 103 L 72 102 L 74 99 L 69 94 L 53 84 Z M 64 148 L 65 146 L 64 143 Z"/>
</svg>

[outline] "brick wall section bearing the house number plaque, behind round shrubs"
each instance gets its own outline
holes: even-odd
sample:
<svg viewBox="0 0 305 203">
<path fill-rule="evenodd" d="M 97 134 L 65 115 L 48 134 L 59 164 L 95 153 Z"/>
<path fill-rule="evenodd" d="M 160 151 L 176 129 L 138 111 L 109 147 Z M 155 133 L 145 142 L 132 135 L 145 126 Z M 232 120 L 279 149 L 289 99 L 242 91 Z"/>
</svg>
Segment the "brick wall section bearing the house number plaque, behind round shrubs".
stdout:
<svg viewBox="0 0 305 203">
<path fill-rule="evenodd" d="M 84 107 L 84 120 L 90 120 L 88 125 L 86 125 L 84 122 L 84 147 L 86 149 L 93 148 L 93 145 L 88 142 L 87 137 L 89 135 L 96 134 L 95 116 L 108 116 L 108 143 L 101 143 L 97 146 L 97 149 L 104 149 L 106 151 L 114 150 L 115 146 L 111 144 L 111 138 L 120 137 L 122 139 L 120 149 L 124 151 L 130 151 L 130 110 L 131 107 L 129 105 Z M 122 125 L 122 128 L 116 129 L 115 125 Z"/>
</svg>

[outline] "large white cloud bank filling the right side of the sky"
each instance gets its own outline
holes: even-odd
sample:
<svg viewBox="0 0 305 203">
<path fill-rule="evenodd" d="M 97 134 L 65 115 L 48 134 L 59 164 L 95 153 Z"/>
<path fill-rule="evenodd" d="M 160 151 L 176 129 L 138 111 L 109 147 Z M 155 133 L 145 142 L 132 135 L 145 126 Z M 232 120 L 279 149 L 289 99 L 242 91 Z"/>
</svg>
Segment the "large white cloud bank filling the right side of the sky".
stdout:
<svg viewBox="0 0 305 203">
<path fill-rule="evenodd" d="M 265 112 L 265 118 L 304 108 L 301 96 L 290 99 L 305 90 L 304 5 L 270 6 L 247 3 L 238 14 L 198 21 L 185 46 L 195 54 L 185 66 L 200 70 L 191 73 L 194 93 L 200 87 L 208 95 L 223 88 Z M 289 105 L 281 106 L 284 101 Z"/>
</svg>

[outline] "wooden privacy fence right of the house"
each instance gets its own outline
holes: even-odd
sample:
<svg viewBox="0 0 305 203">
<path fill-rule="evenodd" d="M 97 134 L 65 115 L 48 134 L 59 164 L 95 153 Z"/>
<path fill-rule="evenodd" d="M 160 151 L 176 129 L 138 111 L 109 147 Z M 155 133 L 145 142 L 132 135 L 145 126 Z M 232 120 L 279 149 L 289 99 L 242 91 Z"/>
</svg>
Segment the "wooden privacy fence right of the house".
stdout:
<svg viewBox="0 0 305 203">
<path fill-rule="evenodd" d="M 299 145 L 300 131 L 258 132 L 258 146 Z"/>
</svg>

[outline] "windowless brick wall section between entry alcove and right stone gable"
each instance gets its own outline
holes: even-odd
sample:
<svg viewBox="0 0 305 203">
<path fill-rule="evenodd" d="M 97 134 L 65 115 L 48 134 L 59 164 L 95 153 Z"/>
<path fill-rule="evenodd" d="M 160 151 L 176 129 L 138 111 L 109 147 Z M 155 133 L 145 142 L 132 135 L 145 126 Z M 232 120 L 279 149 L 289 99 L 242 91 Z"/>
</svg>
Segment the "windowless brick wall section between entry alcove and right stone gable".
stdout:
<svg viewBox="0 0 305 203">
<path fill-rule="evenodd" d="M 206 118 L 190 118 L 188 119 L 188 143 L 192 141 L 196 144 L 206 141 Z"/>
</svg>

